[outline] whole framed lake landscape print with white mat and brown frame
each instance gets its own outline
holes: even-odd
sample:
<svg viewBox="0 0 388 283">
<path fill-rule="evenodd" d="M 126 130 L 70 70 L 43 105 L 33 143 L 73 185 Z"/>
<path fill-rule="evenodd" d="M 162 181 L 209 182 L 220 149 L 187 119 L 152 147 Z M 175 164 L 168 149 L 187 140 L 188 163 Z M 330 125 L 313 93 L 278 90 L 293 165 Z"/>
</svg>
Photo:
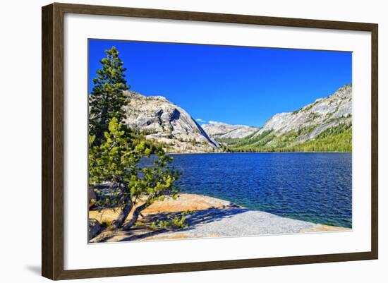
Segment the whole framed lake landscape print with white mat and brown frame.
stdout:
<svg viewBox="0 0 388 283">
<path fill-rule="evenodd" d="M 42 8 L 42 275 L 377 259 L 377 24 Z"/>
</svg>

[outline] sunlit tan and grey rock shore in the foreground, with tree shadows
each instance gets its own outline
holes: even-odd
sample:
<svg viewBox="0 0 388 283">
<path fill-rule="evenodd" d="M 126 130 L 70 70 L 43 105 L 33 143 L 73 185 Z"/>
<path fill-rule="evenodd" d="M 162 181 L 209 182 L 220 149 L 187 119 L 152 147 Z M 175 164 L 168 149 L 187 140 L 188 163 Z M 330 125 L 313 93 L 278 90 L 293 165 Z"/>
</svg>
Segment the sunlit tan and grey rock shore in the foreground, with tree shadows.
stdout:
<svg viewBox="0 0 388 283">
<path fill-rule="evenodd" d="M 174 216 L 186 210 L 193 211 L 193 214 L 186 216 L 187 228 L 151 228 L 155 219 Z M 90 210 L 89 218 L 97 219 L 100 223 L 109 223 L 116 219 L 118 214 L 119 210 Z M 177 200 L 169 198 L 157 201 L 143 210 L 142 214 L 143 217 L 140 217 L 138 225 L 133 229 L 122 231 L 107 228 L 91 239 L 90 243 L 351 231 L 344 227 L 280 217 L 250 210 L 227 200 L 188 193 L 181 193 Z"/>
</svg>

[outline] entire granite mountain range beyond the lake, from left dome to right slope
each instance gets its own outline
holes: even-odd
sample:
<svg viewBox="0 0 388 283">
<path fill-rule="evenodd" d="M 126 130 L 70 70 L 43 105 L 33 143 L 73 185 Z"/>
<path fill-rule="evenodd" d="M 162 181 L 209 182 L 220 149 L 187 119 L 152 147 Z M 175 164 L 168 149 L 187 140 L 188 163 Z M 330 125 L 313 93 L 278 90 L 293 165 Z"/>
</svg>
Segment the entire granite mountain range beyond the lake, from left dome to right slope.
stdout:
<svg viewBox="0 0 388 283">
<path fill-rule="evenodd" d="M 261 128 L 222 122 L 201 126 L 166 97 L 125 94 L 130 102 L 124 123 L 147 131 L 146 138 L 164 143 L 167 152 L 351 151 L 351 85 L 294 112 L 275 114 Z"/>
</svg>

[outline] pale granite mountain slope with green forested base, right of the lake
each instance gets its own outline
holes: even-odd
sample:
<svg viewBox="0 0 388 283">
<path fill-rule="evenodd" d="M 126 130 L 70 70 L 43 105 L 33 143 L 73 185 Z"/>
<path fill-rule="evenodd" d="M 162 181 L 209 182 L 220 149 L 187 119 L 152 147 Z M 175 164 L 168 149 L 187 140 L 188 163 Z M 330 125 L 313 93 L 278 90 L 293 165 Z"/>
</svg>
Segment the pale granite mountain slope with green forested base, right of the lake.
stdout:
<svg viewBox="0 0 388 283">
<path fill-rule="evenodd" d="M 231 151 L 351 151 L 352 88 L 295 112 L 272 116 L 260 131 L 241 139 L 221 138 Z"/>
</svg>

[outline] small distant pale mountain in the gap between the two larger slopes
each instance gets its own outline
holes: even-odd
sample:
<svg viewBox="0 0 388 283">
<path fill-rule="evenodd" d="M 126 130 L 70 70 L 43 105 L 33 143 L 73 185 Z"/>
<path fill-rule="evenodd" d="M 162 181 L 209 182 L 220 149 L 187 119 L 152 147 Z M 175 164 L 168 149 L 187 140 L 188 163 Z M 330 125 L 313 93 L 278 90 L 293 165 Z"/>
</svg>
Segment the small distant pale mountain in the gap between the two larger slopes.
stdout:
<svg viewBox="0 0 388 283">
<path fill-rule="evenodd" d="M 202 128 L 212 138 L 245 138 L 259 131 L 257 127 L 243 125 L 229 125 L 221 122 L 204 124 Z"/>
</svg>

